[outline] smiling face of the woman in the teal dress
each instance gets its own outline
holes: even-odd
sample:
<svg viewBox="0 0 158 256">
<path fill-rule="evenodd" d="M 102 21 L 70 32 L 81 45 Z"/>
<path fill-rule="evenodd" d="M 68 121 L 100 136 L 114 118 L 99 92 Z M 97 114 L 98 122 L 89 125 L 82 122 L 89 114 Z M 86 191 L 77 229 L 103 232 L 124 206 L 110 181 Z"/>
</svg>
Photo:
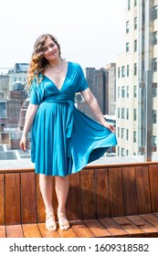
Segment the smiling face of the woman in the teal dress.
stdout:
<svg viewBox="0 0 158 256">
<path fill-rule="evenodd" d="M 43 46 L 43 55 L 45 59 L 47 59 L 47 61 L 58 59 L 58 56 L 59 56 L 58 46 L 49 37 L 47 37 L 47 39 L 45 40 L 45 44 Z"/>
</svg>

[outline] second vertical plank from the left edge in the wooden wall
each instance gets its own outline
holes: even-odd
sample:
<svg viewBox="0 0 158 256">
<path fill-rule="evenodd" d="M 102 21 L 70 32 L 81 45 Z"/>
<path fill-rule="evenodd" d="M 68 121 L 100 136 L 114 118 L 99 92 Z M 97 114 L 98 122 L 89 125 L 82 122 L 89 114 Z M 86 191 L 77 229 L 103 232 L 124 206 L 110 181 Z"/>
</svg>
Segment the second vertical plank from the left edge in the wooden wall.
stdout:
<svg viewBox="0 0 158 256">
<path fill-rule="evenodd" d="M 5 175 L 5 225 L 21 222 L 20 209 L 20 176 L 19 174 Z"/>
</svg>

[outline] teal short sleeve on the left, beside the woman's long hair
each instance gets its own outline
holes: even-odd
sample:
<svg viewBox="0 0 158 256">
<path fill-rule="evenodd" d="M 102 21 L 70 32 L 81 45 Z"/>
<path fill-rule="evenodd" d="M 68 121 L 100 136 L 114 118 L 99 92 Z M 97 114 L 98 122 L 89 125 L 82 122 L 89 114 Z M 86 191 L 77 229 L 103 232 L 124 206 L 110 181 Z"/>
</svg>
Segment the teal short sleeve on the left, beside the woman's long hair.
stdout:
<svg viewBox="0 0 158 256">
<path fill-rule="evenodd" d="M 40 104 L 44 100 L 44 91 L 40 83 L 35 81 L 31 84 L 31 90 L 29 93 L 29 102 L 35 105 Z"/>
</svg>

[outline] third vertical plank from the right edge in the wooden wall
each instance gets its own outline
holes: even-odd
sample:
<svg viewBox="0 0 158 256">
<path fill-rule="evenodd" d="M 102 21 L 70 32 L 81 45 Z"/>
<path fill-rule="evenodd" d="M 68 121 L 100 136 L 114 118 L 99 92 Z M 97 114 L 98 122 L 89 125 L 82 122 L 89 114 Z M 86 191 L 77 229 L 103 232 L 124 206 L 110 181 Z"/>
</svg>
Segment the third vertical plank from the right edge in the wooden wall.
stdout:
<svg viewBox="0 0 158 256">
<path fill-rule="evenodd" d="M 123 186 L 124 214 L 125 215 L 138 214 L 134 167 L 122 168 L 122 186 Z"/>
</svg>

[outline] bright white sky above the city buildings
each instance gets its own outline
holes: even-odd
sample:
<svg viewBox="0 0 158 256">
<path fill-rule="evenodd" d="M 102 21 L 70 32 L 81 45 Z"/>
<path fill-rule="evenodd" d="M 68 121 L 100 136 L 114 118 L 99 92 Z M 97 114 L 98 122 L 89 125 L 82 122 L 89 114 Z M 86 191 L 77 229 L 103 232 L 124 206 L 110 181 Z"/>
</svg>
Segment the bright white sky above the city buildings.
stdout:
<svg viewBox="0 0 158 256">
<path fill-rule="evenodd" d="M 83 69 L 105 67 L 124 51 L 126 0 L 1 0 L 0 68 L 29 63 L 41 34 Z"/>
</svg>

